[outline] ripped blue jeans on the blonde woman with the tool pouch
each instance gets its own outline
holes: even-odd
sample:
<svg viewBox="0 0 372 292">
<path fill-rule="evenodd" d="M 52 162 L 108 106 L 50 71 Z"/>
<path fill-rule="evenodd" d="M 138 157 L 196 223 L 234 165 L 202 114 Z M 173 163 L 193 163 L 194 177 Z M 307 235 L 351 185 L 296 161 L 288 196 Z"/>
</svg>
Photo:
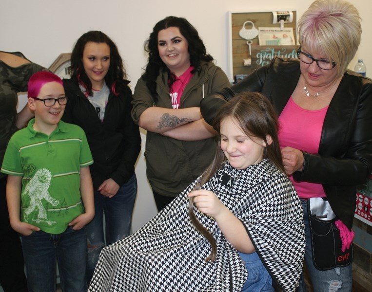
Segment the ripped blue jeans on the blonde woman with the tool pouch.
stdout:
<svg viewBox="0 0 372 292">
<path fill-rule="evenodd" d="M 313 284 L 313 290 L 316 292 L 351 292 L 352 265 L 349 265 L 347 267 L 334 268 L 327 271 L 320 271 L 314 267 L 307 200 L 301 199 L 301 204 L 304 210 L 306 236 L 305 264 L 310 274 L 310 278 Z M 304 282 L 303 273 L 301 274 L 301 281 L 298 292 L 306 292 L 306 285 Z"/>
</svg>

